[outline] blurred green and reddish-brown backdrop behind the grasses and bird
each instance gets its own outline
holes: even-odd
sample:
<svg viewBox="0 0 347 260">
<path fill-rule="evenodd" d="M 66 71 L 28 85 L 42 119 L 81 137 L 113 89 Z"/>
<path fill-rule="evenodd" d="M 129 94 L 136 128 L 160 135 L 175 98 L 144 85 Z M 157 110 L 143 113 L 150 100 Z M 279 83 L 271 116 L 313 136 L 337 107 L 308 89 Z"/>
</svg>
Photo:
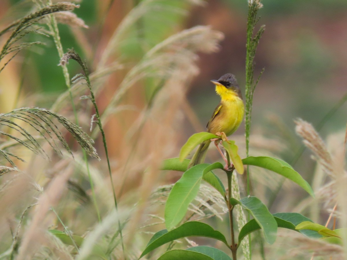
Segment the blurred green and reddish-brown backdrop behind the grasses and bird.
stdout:
<svg viewBox="0 0 347 260">
<path fill-rule="evenodd" d="M 124 17 L 142 1 L 76 2 L 80 8 L 75 9 L 74 13 L 84 20 L 88 28 L 59 24 L 61 42 L 64 51 L 73 47 L 93 72 L 98 69 L 112 34 L 124 22 Z M 181 11 L 167 14 L 159 10 L 144 16 L 136 25 L 140 29 L 133 28 L 133 31 L 125 32 L 127 39 L 119 42 L 117 50 L 116 60 L 131 66 L 156 43 L 183 29 L 208 25 L 224 34 L 224 39 L 219 43 L 219 51 L 198 53 L 196 64 L 199 72 L 187 81 L 187 106 L 178 108 L 193 114 L 184 116 L 181 121 L 175 147 L 170 150 L 172 157 L 178 155 L 180 146 L 189 136 L 205 130 L 206 123 L 219 103 L 214 85 L 210 83 L 211 79 L 218 79 L 231 72 L 238 79 L 243 95 L 245 93 L 247 1 L 211 0 L 202 1 L 198 5 L 192 5 L 192 2 L 194 1 L 173 1 L 168 4 L 168 8 L 172 10 L 186 10 L 183 15 Z M 312 123 L 319 128 L 323 139 L 346 129 L 347 104 L 344 101 L 347 99 L 347 1 L 261 2 L 264 7 L 259 11 L 261 18 L 257 28 L 262 24 L 266 27 L 256 53 L 255 78 L 263 68 L 265 71 L 254 94 L 250 154 L 262 154 L 257 150 L 259 147 L 272 149 L 271 153 L 292 164 L 310 182 L 314 162 L 307 150 L 301 155 L 302 142 L 295 134 L 294 119 L 302 118 Z M 0 6 L 2 28 L 33 10 L 32 1 L 0 0 Z M 43 41 L 46 45 L 34 46 L 21 52 L 20 56 L 2 71 L 0 113 L 23 106 L 49 108 L 57 97 L 66 91 L 64 76 L 61 68 L 57 66 L 59 57 L 52 39 L 42 35 L 30 35 L 29 40 Z M 1 39 L 2 44 L 3 41 L 4 39 Z M 81 72 L 75 62 L 70 63 L 70 75 Z M 125 74 L 124 71 L 117 71 L 105 83 L 97 97 L 101 111 L 110 102 L 111 96 L 117 93 Z M 144 107 L 151 100 L 151 79 L 137 84 L 122 100 L 123 104 L 138 108 Z M 326 117 L 334 109 L 337 110 Z M 123 114 L 106 125 L 108 147 L 115 168 L 122 162 L 119 157 L 124 154 L 124 150 L 119 147 L 126 144 L 117 137 L 119 128 L 126 128 L 130 122 L 133 123 L 132 113 Z M 87 118 L 86 121 L 88 120 Z M 121 126 L 120 121 L 123 123 Z M 243 154 L 244 124 L 234 135 L 240 153 Z M 124 132 L 120 136 L 126 139 Z M 97 140 L 96 147 L 102 154 L 101 140 Z M 214 158 L 217 157 L 211 156 L 208 160 Z M 134 173 L 134 176 L 139 174 Z M 177 180 L 178 176 L 165 177 L 161 182 L 172 182 Z M 132 190 L 139 185 L 141 181 L 133 182 L 134 179 L 136 180 L 136 177 L 128 180 L 129 187 L 124 187 L 123 183 L 122 190 Z M 279 183 L 281 186 L 282 183 Z M 269 191 L 263 189 L 262 196 L 266 198 Z M 274 190 L 270 193 L 277 195 L 278 190 Z M 280 191 L 276 200 L 271 199 L 269 206 L 272 211 L 290 211 L 303 194 L 301 191 L 295 195 L 292 192 L 293 190 L 287 187 Z"/>
</svg>

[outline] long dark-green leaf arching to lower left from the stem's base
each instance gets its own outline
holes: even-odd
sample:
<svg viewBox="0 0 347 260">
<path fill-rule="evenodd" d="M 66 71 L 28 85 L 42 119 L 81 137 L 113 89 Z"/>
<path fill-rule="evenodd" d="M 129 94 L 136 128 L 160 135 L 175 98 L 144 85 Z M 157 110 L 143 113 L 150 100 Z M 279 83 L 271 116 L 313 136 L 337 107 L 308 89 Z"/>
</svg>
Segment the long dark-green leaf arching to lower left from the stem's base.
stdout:
<svg viewBox="0 0 347 260">
<path fill-rule="evenodd" d="M 150 240 L 150 243 L 146 246 L 140 258 L 163 244 L 174 241 L 176 239 L 180 239 L 182 237 L 188 237 L 188 236 L 210 237 L 210 238 L 222 241 L 228 246 L 228 242 L 226 241 L 225 236 L 222 233 L 220 233 L 217 230 L 214 230 L 208 224 L 197 222 L 197 221 L 186 222 L 182 224 L 181 226 L 175 229 L 172 229 L 169 232 L 168 231 L 165 232 L 165 231 L 166 231 L 165 229 L 164 231 L 163 230 L 159 231 L 161 232 L 160 233 L 161 236 L 157 235 L 159 232 L 153 235 L 153 237 L 155 236 L 155 239 Z"/>
</svg>

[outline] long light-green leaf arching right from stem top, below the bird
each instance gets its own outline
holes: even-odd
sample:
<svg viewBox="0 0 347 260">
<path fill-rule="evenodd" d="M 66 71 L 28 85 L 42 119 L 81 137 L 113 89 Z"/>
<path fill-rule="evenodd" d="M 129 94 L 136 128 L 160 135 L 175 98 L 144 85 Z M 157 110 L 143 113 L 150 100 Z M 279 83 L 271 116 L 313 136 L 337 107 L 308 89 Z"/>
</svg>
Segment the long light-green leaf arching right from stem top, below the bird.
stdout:
<svg viewBox="0 0 347 260">
<path fill-rule="evenodd" d="M 249 156 L 243 159 L 242 162 L 243 164 L 246 164 L 246 165 L 259 166 L 259 167 L 271 170 L 273 172 L 276 172 L 286 177 L 287 179 L 294 181 L 301 188 L 307 191 L 308 194 L 314 197 L 314 193 L 310 184 L 308 184 L 308 182 L 305 181 L 303 177 L 298 172 L 293 170 L 293 168 L 285 161 L 282 161 L 280 159 L 273 158 L 273 157 L 267 157 L 267 156 L 259 156 L 259 157 Z"/>
</svg>

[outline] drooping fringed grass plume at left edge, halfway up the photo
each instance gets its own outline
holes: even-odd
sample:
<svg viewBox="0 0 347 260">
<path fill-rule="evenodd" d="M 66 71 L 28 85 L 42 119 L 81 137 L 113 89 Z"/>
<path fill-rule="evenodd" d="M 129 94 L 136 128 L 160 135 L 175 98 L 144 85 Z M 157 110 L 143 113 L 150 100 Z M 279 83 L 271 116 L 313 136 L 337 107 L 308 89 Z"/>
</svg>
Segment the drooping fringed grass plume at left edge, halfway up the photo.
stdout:
<svg viewBox="0 0 347 260">
<path fill-rule="evenodd" d="M 53 119 L 57 122 L 54 122 Z M 35 132 L 35 136 L 31 134 L 28 130 L 21 127 L 18 123 L 14 121 L 22 121 L 27 123 Z M 0 135 L 6 137 L 7 139 L 12 139 L 18 144 L 31 150 L 33 153 L 41 155 L 48 158 L 48 155 L 43 150 L 40 141 L 42 138 L 59 154 L 61 153 L 61 148 L 56 142 L 56 138 L 59 140 L 60 144 L 72 155 L 70 148 L 65 141 L 61 131 L 59 130 L 58 124 L 62 125 L 73 138 L 84 148 L 90 156 L 99 159 L 96 154 L 96 150 L 93 147 L 93 140 L 85 133 L 83 130 L 74 123 L 71 123 L 64 116 L 54 113 L 49 110 L 39 109 L 39 108 L 21 108 L 13 110 L 6 114 L 0 114 L 0 126 L 1 128 L 10 128 L 17 134 L 10 134 L 4 131 L 0 131 Z M 37 137 L 36 135 L 39 135 Z M 11 157 L 14 157 L 22 162 L 24 159 L 19 156 L 10 153 L 7 149 L 0 149 L 0 154 L 2 157 L 11 164 L 12 167 L 16 167 L 14 161 Z"/>
</svg>

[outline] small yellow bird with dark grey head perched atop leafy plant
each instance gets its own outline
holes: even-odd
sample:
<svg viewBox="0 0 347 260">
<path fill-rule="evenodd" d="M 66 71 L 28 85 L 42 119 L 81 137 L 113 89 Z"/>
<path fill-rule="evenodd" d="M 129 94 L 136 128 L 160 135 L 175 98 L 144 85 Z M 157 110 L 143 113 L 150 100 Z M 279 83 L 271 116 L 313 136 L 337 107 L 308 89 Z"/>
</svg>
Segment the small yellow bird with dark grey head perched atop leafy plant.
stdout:
<svg viewBox="0 0 347 260">
<path fill-rule="evenodd" d="M 221 101 L 207 123 L 207 132 L 214 135 L 224 132 L 226 136 L 230 136 L 240 126 L 245 113 L 240 87 L 235 76 L 230 73 L 211 82 L 215 85 Z M 188 168 L 204 162 L 210 142 L 206 140 L 200 144 Z"/>
</svg>

